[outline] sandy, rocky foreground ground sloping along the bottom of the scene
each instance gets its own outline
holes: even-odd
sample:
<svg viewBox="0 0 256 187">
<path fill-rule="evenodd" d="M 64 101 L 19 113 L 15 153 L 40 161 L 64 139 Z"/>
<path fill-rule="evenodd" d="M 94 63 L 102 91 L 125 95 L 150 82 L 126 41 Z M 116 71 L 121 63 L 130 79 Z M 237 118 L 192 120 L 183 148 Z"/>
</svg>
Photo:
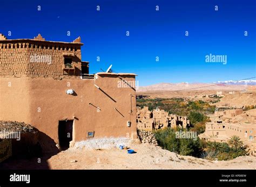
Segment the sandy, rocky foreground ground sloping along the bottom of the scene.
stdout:
<svg viewBox="0 0 256 187">
<path fill-rule="evenodd" d="M 70 148 L 47 160 L 9 160 L 2 168 L 11 169 L 256 169 L 256 157 L 241 156 L 230 161 L 208 161 L 180 156 L 148 143 L 133 143 L 136 151 Z"/>
</svg>

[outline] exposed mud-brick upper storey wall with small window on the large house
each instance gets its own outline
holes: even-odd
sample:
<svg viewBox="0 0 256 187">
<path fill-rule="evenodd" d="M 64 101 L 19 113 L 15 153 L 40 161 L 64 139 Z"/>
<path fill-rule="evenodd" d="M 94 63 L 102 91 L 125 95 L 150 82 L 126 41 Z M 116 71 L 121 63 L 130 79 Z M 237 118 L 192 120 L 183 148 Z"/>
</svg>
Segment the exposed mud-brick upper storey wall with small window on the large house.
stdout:
<svg viewBox="0 0 256 187">
<path fill-rule="evenodd" d="M 41 57 L 39 61 L 36 60 L 38 56 Z M 63 71 L 64 57 L 72 58 L 72 63 L 76 69 L 75 74 L 73 71 L 70 73 Z M 80 45 L 43 41 L 0 44 L 1 77 L 28 76 L 59 79 L 64 77 L 79 78 L 80 74 Z"/>
</svg>

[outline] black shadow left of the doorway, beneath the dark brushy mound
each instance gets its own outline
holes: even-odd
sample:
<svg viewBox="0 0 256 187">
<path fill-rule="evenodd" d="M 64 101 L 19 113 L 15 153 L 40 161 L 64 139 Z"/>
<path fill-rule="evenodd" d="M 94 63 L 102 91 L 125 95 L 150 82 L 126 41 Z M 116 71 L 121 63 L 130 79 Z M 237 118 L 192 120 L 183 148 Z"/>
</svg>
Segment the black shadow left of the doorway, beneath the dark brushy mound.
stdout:
<svg viewBox="0 0 256 187">
<path fill-rule="evenodd" d="M 19 143 L 19 150 L 17 150 L 16 146 L 14 147 L 16 149 L 15 154 L 0 163 L 1 169 L 51 169 L 47 160 L 59 153 L 59 149 L 53 139 L 38 131 L 36 145 L 28 146 L 24 144 L 21 146 L 21 144 Z"/>
</svg>

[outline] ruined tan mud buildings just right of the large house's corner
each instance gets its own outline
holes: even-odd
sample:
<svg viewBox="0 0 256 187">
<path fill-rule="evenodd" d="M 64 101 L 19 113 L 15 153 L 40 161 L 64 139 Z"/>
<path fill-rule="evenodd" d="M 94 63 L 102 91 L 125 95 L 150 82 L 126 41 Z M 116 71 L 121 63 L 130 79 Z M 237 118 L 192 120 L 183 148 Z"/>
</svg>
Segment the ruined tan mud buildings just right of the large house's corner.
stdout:
<svg viewBox="0 0 256 187">
<path fill-rule="evenodd" d="M 190 120 L 186 116 L 169 114 L 164 110 L 154 109 L 149 111 L 148 106 L 137 107 L 137 128 L 139 130 L 157 130 L 159 128 L 187 128 L 190 126 Z"/>
</svg>

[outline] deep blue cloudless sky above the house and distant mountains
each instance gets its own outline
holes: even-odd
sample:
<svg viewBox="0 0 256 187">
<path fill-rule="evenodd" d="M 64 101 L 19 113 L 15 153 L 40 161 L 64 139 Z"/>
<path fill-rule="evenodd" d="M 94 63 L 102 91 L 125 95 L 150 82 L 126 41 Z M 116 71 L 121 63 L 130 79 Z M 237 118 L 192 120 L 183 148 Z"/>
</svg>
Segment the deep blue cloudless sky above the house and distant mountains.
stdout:
<svg viewBox="0 0 256 187">
<path fill-rule="evenodd" d="M 8 39 L 41 33 L 52 41 L 80 36 L 90 73 L 113 64 L 117 73 L 136 73 L 140 86 L 216 82 L 256 76 L 255 12 L 254 0 L 8 0 L 1 1 L 0 33 Z M 210 53 L 227 55 L 227 64 L 206 63 Z"/>
</svg>

